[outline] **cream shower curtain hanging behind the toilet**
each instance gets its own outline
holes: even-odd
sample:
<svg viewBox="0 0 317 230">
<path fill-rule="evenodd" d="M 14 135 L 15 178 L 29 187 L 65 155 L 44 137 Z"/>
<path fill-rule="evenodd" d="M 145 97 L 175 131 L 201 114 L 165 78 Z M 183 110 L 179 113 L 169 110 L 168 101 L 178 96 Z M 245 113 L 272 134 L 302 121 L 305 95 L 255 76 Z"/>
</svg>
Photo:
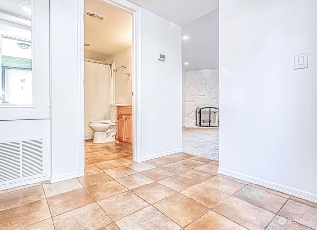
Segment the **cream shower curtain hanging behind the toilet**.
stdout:
<svg viewBox="0 0 317 230">
<path fill-rule="evenodd" d="M 85 139 L 92 139 L 94 132 L 89 122 L 110 120 L 113 104 L 113 75 L 109 65 L 85 61 Z"/>
</svg>

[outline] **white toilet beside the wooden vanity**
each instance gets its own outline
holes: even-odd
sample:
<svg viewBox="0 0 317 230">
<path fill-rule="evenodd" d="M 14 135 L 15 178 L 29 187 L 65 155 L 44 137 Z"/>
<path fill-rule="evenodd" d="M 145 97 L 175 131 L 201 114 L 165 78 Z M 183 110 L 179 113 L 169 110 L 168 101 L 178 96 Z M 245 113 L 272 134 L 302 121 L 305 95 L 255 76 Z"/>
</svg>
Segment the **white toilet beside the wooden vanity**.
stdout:
<svg viewBox="0 0 317 230">
<path fill-rule="evenodd" d="M 89 122 L 89 128 L 94 132 L 93 143 L 107 143 L 115 141 L 117 108 L 115 105 L 110 105 L 110 119 Z"/>
</svg>

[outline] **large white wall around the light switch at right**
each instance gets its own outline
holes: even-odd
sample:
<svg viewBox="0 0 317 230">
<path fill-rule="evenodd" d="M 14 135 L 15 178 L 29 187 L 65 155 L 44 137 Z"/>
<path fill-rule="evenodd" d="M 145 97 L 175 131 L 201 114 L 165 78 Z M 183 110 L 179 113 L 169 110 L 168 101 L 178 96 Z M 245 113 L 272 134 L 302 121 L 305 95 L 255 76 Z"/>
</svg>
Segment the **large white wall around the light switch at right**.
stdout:
<svg viewBox="0 0 317 230">
<path fill-rule="evenodd" d="M 317 1 L 219 9 L 219 172 L 317 202 Z"/>
</svg>

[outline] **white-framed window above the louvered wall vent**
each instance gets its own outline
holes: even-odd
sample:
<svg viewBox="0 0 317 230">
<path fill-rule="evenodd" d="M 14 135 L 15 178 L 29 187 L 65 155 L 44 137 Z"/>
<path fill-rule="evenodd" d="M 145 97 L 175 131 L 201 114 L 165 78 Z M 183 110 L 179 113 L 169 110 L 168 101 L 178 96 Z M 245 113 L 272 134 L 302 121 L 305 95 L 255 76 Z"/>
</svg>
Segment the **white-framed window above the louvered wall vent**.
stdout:
<svg viewBox="0 0 317 230">
<path fill-rule="evenodd" d="M 0 12 L 0 120 L 49 119 L 49 0 L 1 1 Z"/>
</svg>

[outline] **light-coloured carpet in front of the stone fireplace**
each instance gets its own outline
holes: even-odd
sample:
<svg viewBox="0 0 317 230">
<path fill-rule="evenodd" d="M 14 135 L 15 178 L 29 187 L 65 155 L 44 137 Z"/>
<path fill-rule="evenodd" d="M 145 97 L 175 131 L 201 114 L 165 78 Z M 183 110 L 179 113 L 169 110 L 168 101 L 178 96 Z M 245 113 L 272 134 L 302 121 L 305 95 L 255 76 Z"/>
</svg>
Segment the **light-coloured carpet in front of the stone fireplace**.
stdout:
<svg viewBox="0 0 317 230">
<path fill-rule="evenodd" d="M 183 152 L 219 161 L 219 129 L 185 128 L 182 138 Z"/>
</svg>

